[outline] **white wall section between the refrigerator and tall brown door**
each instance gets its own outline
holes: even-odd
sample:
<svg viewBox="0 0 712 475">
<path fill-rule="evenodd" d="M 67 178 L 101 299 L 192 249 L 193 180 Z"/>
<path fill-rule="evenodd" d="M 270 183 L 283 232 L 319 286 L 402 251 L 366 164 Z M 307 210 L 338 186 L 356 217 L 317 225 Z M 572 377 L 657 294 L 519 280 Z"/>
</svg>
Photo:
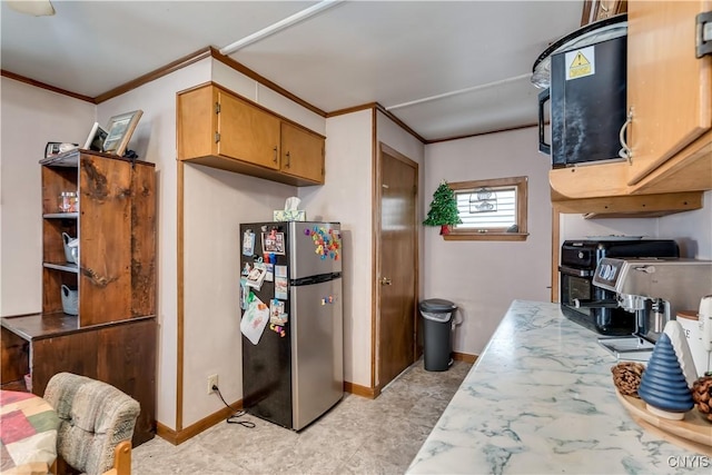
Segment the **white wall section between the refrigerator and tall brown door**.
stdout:
<svg viewBox="0 0 712 475">
<path fill-rule="evenodd" d="M 372 184 L 370 110 L 326 120 L 325 185 L 299 188 L 307 219 L 342 222 L 344 378 L 370 387 Z"/>
</svg>

